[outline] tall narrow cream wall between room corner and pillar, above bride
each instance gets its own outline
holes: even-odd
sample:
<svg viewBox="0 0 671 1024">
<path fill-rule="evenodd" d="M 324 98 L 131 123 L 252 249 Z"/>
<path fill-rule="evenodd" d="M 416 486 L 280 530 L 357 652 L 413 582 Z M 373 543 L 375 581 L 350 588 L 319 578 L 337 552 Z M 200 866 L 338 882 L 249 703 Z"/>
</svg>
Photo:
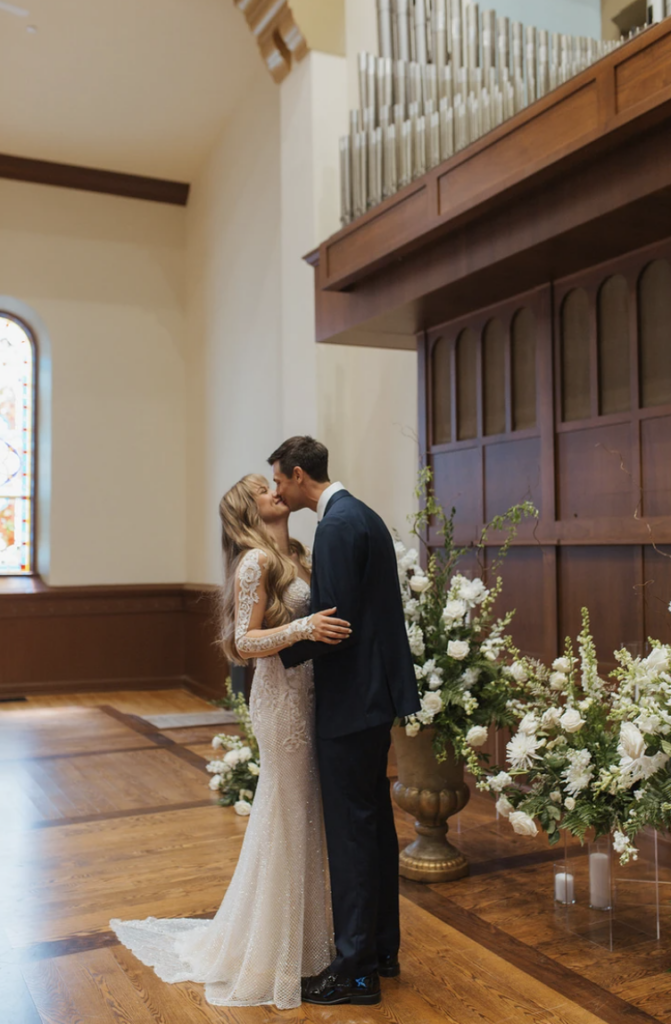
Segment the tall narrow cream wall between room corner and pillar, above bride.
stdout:
<svg viewBox="0 0 671 1024">
<path fill-rule="evenodd" d="M 218 505 L 282 434 L 280 91 L 262 62 L 187 207 L 187 580 L 220 583 Z"/>
</svg>

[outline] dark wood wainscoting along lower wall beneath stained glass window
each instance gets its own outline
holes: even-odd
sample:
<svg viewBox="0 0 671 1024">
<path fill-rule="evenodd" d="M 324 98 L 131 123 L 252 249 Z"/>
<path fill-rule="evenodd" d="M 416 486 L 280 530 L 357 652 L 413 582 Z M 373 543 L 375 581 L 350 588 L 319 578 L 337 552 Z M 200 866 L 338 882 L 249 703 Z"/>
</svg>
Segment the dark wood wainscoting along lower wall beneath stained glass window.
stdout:
<svg viewBox="0 0 671 1024">
<path fill-rule="evenodd" d="M 183 686 L 222 695 L 215 587 L 5 583 L 0 698 Z"/>
</svg>

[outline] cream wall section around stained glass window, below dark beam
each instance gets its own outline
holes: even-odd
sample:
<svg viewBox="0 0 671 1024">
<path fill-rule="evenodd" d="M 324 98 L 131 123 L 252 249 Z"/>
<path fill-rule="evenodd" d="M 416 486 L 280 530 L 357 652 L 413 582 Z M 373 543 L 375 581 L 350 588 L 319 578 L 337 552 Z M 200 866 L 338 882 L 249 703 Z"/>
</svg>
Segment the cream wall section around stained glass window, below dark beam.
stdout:
<svg viewBox="0 0 671 1024">
<path fill-rule="evenodd" d="M 2 291 L 51 343 L 52 585 L 184 578 L 184 220 L 0 181 Z"/>
</svg>

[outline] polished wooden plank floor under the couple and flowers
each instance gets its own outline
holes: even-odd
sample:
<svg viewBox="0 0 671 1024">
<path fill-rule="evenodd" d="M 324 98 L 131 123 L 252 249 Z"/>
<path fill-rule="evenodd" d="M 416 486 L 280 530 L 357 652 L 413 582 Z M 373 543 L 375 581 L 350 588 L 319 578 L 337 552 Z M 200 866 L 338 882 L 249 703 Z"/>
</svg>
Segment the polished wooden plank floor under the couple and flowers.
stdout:
<svg viewBox="0 0 671 1024">
<path fill-rule="evenodd" d="M 221 901 L 246 821 L 207 787 L 211 729 L 141 717 L 207 709 L 175 690 L 0 706 L 0 1024 L 671 1024 L 671 882 L 663 941 L 610 952 L 567 931 L 556 852 L 477 795 L 453 835 L 471 877 L 402 882 L 403 974 L 379 1008 L 222 1009 L 164 985 L 109 921 Z M 408 842 L 412 822 L 397 824 Z"/>
</svg>

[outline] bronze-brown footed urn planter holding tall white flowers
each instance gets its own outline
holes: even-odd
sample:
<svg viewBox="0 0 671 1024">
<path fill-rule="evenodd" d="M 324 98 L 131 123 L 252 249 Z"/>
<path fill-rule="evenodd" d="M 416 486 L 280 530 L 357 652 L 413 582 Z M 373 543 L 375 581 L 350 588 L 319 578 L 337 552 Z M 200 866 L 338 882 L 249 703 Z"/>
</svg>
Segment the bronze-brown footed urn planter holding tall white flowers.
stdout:
<svg viewBox="0 0 671 1024">
<path fill-rule="evenodd" d="M 405 728 L 392 729 L 399 780 L 393 799 L 415 816 L 417 839 L 401 853 L 400 870 L 414 882 L 455 882 L 469 871 L 462 853 L 448 842 L 448 818 L 458 814 L 470 797 L 464 782 L 464 765 L 454 752 L 442 764 L 433 754 L 433 729 L 409 736 Z"/>
</svg>

